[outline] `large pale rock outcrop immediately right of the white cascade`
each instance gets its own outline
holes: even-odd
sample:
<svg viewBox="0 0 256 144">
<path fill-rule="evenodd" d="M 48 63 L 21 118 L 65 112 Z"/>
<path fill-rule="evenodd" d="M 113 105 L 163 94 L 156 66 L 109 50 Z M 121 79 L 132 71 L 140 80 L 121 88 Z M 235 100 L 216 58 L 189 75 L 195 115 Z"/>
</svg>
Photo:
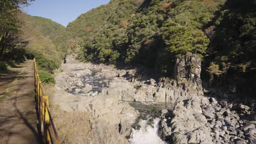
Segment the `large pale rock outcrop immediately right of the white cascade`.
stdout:
<svg viewBox="0 0 256 144">
<path fill-rule="evenodd" d="M 196 97 L 187 100 L 185 104 L 181 101 L 174 107 L 171 120 L 173 143 L 213 143 L 201 103 L 209 102 L 206 98 Z"/>
</svg>

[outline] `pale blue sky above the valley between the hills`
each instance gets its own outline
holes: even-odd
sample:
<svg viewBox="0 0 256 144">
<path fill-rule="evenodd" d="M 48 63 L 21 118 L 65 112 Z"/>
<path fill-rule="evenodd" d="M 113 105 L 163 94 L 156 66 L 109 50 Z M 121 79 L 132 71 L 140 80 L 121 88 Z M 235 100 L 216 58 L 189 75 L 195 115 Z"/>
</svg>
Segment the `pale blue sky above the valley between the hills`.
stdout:
<svg viewBox="0 0 256 144">
<path fill-rule="evenodd" d="M 107 4 L 110 0 L 36 0 L 23 11 L 41 16 L 67 26 L 69 22 L 92 8 Z"/>
</svg>

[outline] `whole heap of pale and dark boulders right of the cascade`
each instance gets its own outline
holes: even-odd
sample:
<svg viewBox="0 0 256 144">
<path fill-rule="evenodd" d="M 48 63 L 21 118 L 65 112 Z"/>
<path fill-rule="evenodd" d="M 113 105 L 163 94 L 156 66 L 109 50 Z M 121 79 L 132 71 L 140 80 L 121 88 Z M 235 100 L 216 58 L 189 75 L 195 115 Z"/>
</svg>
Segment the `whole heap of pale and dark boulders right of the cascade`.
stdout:
<svg viewBox="0 0 256 144">
<path fill-rule="evenodd" d="M 243 104 L 194 97 L 165 114 L 160 133 L 173 143 L 255 143 L 254 116 Z"/>
</svg>

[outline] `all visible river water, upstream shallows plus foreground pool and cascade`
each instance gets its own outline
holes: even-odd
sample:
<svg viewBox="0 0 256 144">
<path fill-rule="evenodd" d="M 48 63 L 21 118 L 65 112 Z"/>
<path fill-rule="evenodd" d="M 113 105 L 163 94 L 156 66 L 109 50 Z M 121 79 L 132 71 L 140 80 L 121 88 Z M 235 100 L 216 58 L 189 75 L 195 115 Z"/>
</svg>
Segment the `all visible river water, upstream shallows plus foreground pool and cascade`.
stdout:
<svg viewBox="0 0 256 144">
<path fill-rule="evenodd" d="M 80 70 L 80 69 L 79 69 Z M 91 74 L 83 75 L 83 83 L 87 83 L 92 86 L 92 89 L 89 93 L 81 93 L 82 87 L 75 87 L 70 89 L 69 93 L 80 94 L 80 95 L 92 95 L 94 93 L 101 92 L 102 88 L 108 87 L 108 83 L 111 80 L 107 80 L 104 77 L 95 76 L 100 69 L 90 69 Z M 75 70 L 74 70 L 75 71 Z M 74 77 L 73 75 L 71 77 Z M 159 135 L 159 122 L 161 117 L 161 110 L 168 109 L 172 110 L 173 105 L 166 103 L 139 103 L 139 102 L 130 102 L 132 107 L 135 107 L 139 111 L 139 117 L 136 119 L 136 122 L 132 125 L 132 132 L 130 134 L 129 142 L 131 144 L 165 144 L 168 142 L 163 141 Z"/>
</svg>

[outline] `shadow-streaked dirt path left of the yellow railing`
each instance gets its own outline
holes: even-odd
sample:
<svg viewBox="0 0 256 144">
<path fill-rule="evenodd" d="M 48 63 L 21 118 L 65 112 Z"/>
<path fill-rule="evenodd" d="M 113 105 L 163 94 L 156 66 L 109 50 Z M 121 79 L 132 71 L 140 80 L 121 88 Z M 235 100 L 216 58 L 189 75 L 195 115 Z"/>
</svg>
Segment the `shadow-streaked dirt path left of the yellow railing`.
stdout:
<svg viewBox="0 0 256 144">
<path fill-rule="evenodd" d="M 0 143 L 39 143 L 33 61 L 0 74 Z"/>
</svg>

